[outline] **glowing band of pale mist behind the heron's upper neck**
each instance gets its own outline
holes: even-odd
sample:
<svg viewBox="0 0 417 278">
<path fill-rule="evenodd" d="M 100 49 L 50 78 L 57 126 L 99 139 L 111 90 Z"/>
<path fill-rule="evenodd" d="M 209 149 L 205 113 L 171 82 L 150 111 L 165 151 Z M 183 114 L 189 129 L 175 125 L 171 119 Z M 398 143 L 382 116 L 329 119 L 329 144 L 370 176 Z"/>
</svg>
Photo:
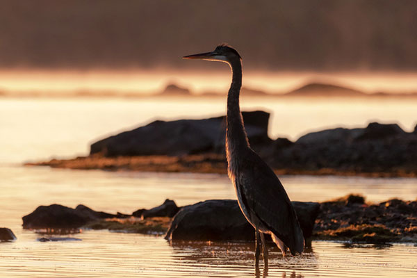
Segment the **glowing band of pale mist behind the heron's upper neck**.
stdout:
<svg viewBox="0 0 417 278">
<path fill-rule="evenodd" d="M 417 72 L 243 72 L 243 87 L 280 95 L 308 83 L 329 83 L 365 93 L 417 92 Z M 216 71 L 187 70 L 0 70 L 0 97 L 141 96 L 161 92 L 166 85 L 188 88 L 193 94 L 227 94 L 231 73 L 227 65 Z M 243 97 L 245 95 L 243 94 Z"/>
</svg>

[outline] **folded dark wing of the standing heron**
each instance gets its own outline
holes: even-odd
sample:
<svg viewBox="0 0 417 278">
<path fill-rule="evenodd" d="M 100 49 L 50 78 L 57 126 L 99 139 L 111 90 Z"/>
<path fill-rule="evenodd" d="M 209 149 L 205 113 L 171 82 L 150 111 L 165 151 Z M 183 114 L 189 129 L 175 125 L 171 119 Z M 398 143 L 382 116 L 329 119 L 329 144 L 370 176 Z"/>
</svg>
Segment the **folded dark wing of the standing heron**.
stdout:
<svg viewBox="0 0 417 278">
<path fill-rule="evenodd" d="M 304 236 L 288 195 L 272 169 L 252 150 L 240 161 L 236 186 L 247 209 L 282 240 L 291 253 L 304 250 Z"/>
</svg>

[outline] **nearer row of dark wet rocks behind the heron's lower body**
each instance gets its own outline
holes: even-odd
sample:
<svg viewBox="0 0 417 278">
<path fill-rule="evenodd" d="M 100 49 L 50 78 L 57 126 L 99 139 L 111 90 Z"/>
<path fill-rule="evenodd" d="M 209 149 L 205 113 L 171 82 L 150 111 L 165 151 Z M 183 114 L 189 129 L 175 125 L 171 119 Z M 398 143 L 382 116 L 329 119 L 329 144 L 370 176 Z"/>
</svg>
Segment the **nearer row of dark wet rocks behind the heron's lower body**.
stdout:
<svg viewBox="0 0 417 278">
<path fill-rule="evenodd" d="M 306 243 L 345 240 L 351 243 L 417 243 L 417 201 L 391 199 L 367 204 L 357 195 L 329 202 L 293 202 Z M 24 216 L 24 229 L 40 234 L 74 234 L 81 229 L 108 229 L 165 234 L 167 240 L 253 240 L 254 229 L 235 200 L 207 200 L 178 207 L 172 200 L 132 213 L 111 214 L 79 205 L 40 206 Z"/>
</svg>

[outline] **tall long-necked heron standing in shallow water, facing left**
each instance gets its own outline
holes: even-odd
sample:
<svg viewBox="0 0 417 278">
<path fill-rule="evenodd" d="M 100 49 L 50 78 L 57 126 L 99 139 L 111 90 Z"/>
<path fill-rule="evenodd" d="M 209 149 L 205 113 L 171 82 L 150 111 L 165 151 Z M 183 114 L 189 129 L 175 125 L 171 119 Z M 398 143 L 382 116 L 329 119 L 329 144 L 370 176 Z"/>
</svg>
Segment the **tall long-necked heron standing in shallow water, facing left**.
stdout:
<svg viewBox="0 0 417 278">
<path fill-rule="evenodd" d="M 272 236 L 283 256 L 287 247 L 293 255 L 302 253 L 304 236 L 291 201 L 275 173 L 251 149 L 247 140 L 239 106 L 242 58 L 238 51 L 220 44 L 214 51 L 183 58 L 220 61 L 231 67 L 232 80 L 227 95 L 227 172 L 234 184 L 240 209 L 255 228 L 256 267 L 261 254 L 260 239 L 265 268 L 268 268 L 268 249 L 263 234 Z"/>
</svg>

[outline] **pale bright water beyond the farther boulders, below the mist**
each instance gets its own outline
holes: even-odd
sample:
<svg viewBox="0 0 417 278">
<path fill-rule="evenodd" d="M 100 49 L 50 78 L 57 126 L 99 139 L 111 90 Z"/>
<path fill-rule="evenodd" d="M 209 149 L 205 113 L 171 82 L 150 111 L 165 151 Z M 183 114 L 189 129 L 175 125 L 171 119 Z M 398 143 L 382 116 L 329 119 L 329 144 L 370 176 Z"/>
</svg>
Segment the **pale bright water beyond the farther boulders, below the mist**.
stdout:
<svg viewBox="0 0 417 278">
<path fill-rule="evenodd" d="M 89 145 L 153 120 L 224 115 L 225 99 L 0 98 L 0 163 L 86 155 Z M 242 109 L 271 113 L 271 138 L 295 140 L 310 131 L 369 122 L 417 124 L 414 99 L 279 99 L 247 97 Z"/>
</svg>

